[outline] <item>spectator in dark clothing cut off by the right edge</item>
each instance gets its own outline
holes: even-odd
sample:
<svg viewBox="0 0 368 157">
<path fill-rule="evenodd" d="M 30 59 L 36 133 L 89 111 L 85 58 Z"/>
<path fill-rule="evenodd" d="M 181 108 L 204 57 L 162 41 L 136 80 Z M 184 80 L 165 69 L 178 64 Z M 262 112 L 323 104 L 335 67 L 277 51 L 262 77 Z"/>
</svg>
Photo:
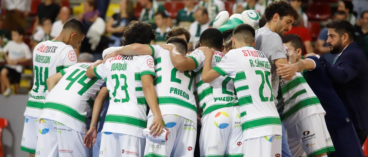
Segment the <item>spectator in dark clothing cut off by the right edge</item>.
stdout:
<svg viewBox="0 0 368 157">
<path fill-rule="evenodd" d="M 360 13 L 360 25 L 355 25 L 355 41 L 368 58 L 368 10 Z"/>
</svg>

